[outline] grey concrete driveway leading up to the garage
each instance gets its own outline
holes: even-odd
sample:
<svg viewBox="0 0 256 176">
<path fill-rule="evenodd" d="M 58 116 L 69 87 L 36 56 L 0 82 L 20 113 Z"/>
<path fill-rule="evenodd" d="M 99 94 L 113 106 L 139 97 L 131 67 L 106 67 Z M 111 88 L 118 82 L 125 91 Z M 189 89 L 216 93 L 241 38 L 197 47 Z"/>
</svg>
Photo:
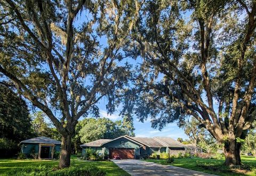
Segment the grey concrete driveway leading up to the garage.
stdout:
<svg viewBox="0 0 256 176">
<path fill-rule="evenodd" d="M 211 175 L 203 172 L 183 169 L 171 165 L 162 165 L 140 160 L 112 160 L 120 168 L 130 173 L 132 176 L 137 175 L 151 175 L 151 176 L 165 176 L 165 175 Z"/>
</svg>

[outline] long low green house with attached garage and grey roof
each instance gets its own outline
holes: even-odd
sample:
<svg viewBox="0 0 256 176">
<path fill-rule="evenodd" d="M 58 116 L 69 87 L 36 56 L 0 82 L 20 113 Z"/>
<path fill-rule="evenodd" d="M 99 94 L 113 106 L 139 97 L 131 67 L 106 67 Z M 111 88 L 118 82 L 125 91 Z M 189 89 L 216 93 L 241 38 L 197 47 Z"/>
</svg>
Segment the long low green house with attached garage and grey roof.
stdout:
<svg viewBox="0 0 256 176">
<path fill-rule="evenodd" d="M 186 146 L 169 137 L 130 137 L 121 136 L 115 139 L 99 139 L 81 145 L 82 153 L 86 148 L 95 149 L 99 154 L 108 155 L 110 159 L 119 155 L 123 159 L 134 159 L 149 156 L 152 153 L 170 152 L 185 153 Z"/>
</svg>

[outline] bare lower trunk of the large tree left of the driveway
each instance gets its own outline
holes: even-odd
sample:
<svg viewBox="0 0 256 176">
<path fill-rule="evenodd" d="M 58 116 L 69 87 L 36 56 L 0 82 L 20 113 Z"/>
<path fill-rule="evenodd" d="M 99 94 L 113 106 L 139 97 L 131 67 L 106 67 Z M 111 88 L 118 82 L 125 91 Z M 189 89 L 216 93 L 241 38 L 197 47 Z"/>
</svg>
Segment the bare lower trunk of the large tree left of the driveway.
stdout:
<svg viewBox="0 0 256 176">
<path fill-rule="evenodd" d="M 71 135 L 62 136 L 61 150 L 60 150 L 60 163 L 59 163 L 60 169 L 70 166 L 70 156 L 71 156 Z"/>
</svg>

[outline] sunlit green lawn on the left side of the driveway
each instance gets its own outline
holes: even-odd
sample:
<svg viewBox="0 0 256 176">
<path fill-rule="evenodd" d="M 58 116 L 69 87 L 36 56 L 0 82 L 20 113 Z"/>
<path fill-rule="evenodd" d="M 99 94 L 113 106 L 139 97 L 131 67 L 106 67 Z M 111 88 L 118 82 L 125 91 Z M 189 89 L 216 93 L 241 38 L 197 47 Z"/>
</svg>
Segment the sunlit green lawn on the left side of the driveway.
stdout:
<svg viewBox="0 0 256 176">
<path fill-rule="evenodd" d="M 29 165 L 50 165 L 50 166 L 57 166 L 59 163 L 58 160 L 0 160 L 0 175 L 4 174 L 6 171 L 13 169 L 13 168 L 22 168 Z M 86 165 L 96 166 L 99 169 L 104 170 L 108 176 L 119 176 L 124 175 L 128 176 L 126 171 L 119 168 L 115 163 L 109 161 L 84 161 L 78 160 L 74 157 L 71 157 L 71 165 L 79 165 L 81 167 Z"/>
</svg>

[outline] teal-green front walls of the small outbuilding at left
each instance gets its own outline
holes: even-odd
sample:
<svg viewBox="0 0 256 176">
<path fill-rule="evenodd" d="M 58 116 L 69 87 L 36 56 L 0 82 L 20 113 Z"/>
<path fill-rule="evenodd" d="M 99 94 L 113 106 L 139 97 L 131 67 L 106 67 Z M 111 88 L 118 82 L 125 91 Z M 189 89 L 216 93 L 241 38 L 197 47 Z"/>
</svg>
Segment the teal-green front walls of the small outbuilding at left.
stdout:
<svg viewBox="0 0 256 176">
<path fill-rule="evenodd" d="M 39 144 L 33 143 L 23 143 L 21 144 L 21 152 L 24 153 L 27 157 L 30 156 L 31 150 L 35 149 L 35 153 L 39 152 Z M 60 144 L 56 144 L 54 147 L 56 152 L 60 152 Z M 50 154 L 49 158 L 51 157 L 52 147 L 50 146 Z"/>
</svg>

